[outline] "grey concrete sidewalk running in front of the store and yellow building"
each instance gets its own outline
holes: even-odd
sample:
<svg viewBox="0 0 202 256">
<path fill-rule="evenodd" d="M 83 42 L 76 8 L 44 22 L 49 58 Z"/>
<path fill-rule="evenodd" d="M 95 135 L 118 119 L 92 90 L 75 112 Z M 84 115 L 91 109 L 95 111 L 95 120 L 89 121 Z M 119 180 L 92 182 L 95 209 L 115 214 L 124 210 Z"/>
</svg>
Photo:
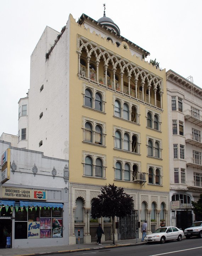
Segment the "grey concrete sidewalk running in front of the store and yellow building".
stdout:
<svg viewBox="0 0 202 256">
<path fill-rule="evenodd" d="M 101 250 L 112 247 L 119 246 L 135 246 L 145 244 L 146 242 L 141 242 L 141 238 L 136 239 L 127 239 L 127 240 L 118 240 L 115 241 L 116 245 L 112 245 L 112 240 L 102 242 L 102 245 L 96 245 L 95 242 L 89 244 L 78 244 L 76 245 L 58 245 L 58 246 L 43 246 L 43 247 L 30 247 L 30 248 L 5 248 L 0 249 L 0 256 L 31 256 L 31 255 L 47 255 L 54 253 L 64 253 L 64 252 L 75 252 L 75 251 L 88 251 L 88 250 Z M 80 247 L 80 249 L 78 249 Z"/>
</svg>

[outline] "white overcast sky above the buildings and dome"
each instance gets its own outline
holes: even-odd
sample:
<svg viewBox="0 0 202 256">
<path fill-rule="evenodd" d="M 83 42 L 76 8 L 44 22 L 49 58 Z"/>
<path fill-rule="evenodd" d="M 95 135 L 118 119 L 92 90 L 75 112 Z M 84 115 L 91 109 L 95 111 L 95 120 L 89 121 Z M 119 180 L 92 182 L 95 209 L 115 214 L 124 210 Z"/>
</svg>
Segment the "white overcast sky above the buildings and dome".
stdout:
<svg viewBox="0 0 202 256">
<path fill-rule="evenodd" d="M 69 14 L 106 16 L 120 34 L 151 53 L 160 68 L 174 70 L 202 87 L 201 0 L 0 0 L 0 135 L 18 133 L 18 101 L 26 97 L 30 55 L 46 26 L 61 31 Z"/>
</svg>

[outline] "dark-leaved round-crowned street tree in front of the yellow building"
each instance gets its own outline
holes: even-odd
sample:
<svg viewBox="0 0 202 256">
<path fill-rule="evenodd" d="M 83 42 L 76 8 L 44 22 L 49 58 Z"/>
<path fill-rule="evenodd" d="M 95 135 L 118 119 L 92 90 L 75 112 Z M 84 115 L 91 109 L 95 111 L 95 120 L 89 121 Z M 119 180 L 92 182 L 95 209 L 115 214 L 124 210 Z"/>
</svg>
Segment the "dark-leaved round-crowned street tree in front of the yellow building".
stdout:
<svg viewBox="0 0 202 256">
<path fill-rule="evenodd" d="M 95 198 L 91 206 L 91 217 L 93 219 L 107 217 L 112 218 L 113 244 L 114 239 L 114 217 L 125 217 L 131 214 L 134 203 L 129 194 L 124 193 L 122 187 L 109 184 L 101 188 L 101 194 Z"/>
</svg>

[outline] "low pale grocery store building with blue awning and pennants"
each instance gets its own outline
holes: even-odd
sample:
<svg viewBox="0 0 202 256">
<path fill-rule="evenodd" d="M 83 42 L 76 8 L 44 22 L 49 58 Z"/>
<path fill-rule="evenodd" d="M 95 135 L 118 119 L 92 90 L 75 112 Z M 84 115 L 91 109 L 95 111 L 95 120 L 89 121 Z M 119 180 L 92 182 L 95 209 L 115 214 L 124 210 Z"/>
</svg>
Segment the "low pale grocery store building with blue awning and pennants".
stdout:
<svg viewBox="0 0 202 256">
<path fill-rule="evenodd" d="M 39 151 L 15 148 L 3 141 L 0 141 L 0 152 L 1 155 L 6 152 L 11 165 L 10 179 L 0 185 L 0 229 L 6 230 L 2 241 L 11 236 L 13 248 L 67 245 L 68 161 L 46 157 Z M 0 168 L 4 170 L 2 162 Z M 42 191 L 39 193 L 43 193 L 44 198 L 37 197 L 34 191 Z M 6 212 L 5 207 L 8 207 Z M 57 239 L 54 237 L 55 220 L 61 223 Z M 46 226 L 41 226 L 45 221 Z M 37 238 L 32 236 L 34 231 L 28 229 L 33 223 L 40 225 Z"/>
</svg>

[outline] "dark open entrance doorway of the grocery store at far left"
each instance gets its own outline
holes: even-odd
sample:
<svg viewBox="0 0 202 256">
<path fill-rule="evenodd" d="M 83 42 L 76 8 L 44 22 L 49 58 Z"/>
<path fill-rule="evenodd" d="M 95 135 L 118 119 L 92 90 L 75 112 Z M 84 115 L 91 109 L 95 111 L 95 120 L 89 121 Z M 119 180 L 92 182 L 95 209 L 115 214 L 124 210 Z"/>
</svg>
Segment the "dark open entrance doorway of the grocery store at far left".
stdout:
<svg viewBox="0 0 202 256">
<path fill-rule="evenodd" d="M 0 219 L 0 248 L 6 248 L 7 241 L 11 241 L 11 231 L 11 219 Z M 11 245 L 9 247 L 11 247 Z"/>
</svg>

